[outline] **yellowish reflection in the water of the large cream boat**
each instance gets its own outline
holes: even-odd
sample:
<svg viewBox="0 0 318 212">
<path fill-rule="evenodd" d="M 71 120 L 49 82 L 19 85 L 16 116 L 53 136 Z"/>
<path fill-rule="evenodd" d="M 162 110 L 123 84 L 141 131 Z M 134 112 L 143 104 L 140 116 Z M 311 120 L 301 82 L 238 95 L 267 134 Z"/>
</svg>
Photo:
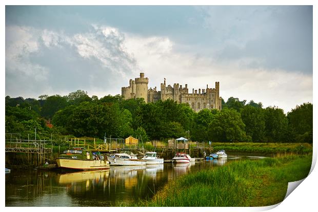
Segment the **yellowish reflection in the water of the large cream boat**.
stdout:
<svg viewBox="0 0 318 212">
<path fill-rule="evenodd" d="M 82 182 L 87 180 L 94 180 L 96 178 L 106 178 L 109 176 L 109 169 L 101 171 L 85 171 L 85 172 L 71 172 L 58 175 L 58 182 L 60 184 L 69 184 L 73 182 Z"/>
</svg>

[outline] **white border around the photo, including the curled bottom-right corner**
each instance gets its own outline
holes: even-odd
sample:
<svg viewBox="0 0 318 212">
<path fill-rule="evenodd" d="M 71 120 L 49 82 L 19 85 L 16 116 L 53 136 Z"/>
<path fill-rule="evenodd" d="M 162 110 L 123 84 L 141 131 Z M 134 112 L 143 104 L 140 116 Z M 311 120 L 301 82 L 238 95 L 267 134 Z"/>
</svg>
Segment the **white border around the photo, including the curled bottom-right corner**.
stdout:
<svg viewBox="0 0 318 212">
<path fill-rule="evenodd" d="M 73 5 L 76 3 L 76 5 L 313 5 L 313 46 L 315 47 L 313 49 L 313 70 L 317 70 L 316 62 L 316 37 L 317 37 L 317 29 L 315 26 L 317 26 L 317 3 L 316 1 L 295 1 L 295 0 L 281 0 L 281 1 L 273 1 L 273 0 L 268 0 L 268 1 L 203 1 L 203 0 L 196 0 L 195 2 L 190 1 L 190 0 L 184 0 L 184 1 L 145 1 L 145 0 L 136 0 L 136 1 L 124 1 L 124 0 L 118 0 L 118 1 L 101 1 L 101 0 L 90 0 L 90 1 L 61 1 L 61 0 L 56 0 L 56 1 L 39 1 L 39 0 L 30 0 L 30 1 L 22 1 L 22 0 L 4 0 L 2 1 L 2 12 L 0 13 L 1 17 L 1 23 L 2 23 L 2 33 L 1 33 L 1 38 L 2 38 L 2 57 L 1 57 L 1 67 L 2 67 L 2 77 L 1 79 L 3 80 L 2 83 L 2 104 L 1 104 L 1 111 L 2 111 L 2 119 L 0 120 L 2 128 L 1 132 L 4 138 L 4 97 L 5 97 L 5 5 Z M 313 71 L 313 81 L 316 82 L 316 71 Z M 315 94 L 315 91 L 317 89 L 316 83 L 313 83 L 313 94 Z M 316 98 L 313 96 L 313 105 L 314 105 L 314 117 L 316 115 Z M 314 125 L 313 129 L 316 128 L 317 122 L 314 120 Z M 312 165 L 312 173 L 292 192 L 281 204 L 273 205 L 273 206 L 268 206 L 268 207 L 187 207 L 187 208 L 175 208 L 175 207 L 155 207 L 155 208 L 136 208 L 136 207 L 112 207 L 112 208 L 100 208 L 100 209 L 107 209 L 111 211 L 162 211 L 162 210 L 186 210 L 186 211 L 217 211 L 217 210 L 222 210 L 222 211 L 264 211 L 271 209 L 271 211 L 312 211 L 312 208 L 315 208 L 316 206 L 316 192 L 317 192 L 317 182 L 316 179 L 318 179 L 317 176 L 317 171 L 313 169 L 314 164 L 317 160 L 317 148 L 316 148 L 316 131 L 314 131 L 314 154 L 313 154 L 313 165 Z M 4 161 L 5 158 L 3 156 L 3 167 L 4 167 Z M 3 187 L 5 183 L 4 179 L 4 174 L 2 175 L 2 183 Z M 2 201 L 3 201 L 3 207 L 5 206 L 5 189 L 3 189 L 3 196 L 2 196 Z M 57 208 L 38 208 L 38 207 L 24 207 L 24 208 L 16 208 L 16 207 L 6 207 L 5 210 L 7 211 L 16 211 L 19 209 L 23 210 L 56 210 Z M 81 211 L 87 211 L 87 210 L 95 210 L 94 208 L 86 208 L 86 207 L 77 207 L 77 208 L 69 208 L 69 207 L 60 207 L 58 210 L 81 210 Z M 99 209 L 98 209 L 99 210 Z"/>
</svg>

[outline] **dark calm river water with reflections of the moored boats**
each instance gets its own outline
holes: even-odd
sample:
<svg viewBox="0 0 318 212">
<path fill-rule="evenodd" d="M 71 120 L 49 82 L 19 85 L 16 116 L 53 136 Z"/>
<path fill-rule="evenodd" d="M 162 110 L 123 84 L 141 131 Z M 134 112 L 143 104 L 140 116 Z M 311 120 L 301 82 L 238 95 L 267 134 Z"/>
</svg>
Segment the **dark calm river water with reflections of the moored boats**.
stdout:
<svg viewBox="0 0 318 212">
<path fill-rule="evenodd" d="M 187 173 L 258 158 L 229 156 L 190 164 L 111 166 L 108 171 L 11 170 L 6 174 L 6 206 L 114 206 L 151 198 L 168 181 Z"/>
</svg>

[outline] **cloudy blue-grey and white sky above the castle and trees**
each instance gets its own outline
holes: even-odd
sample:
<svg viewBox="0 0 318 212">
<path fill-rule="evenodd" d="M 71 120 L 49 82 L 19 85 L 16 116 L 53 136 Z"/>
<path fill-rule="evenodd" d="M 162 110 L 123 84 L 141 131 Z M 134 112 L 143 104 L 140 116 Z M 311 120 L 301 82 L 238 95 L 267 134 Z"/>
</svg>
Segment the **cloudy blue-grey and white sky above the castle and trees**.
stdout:
<svg viewBox="0 0 318 212">
<path fill-rule="evenodd" d="M 312 102 L 312 6 L 6 6 L 5 94 L 121 94 L 188 84 L 275 105 Z"/>
</svg>

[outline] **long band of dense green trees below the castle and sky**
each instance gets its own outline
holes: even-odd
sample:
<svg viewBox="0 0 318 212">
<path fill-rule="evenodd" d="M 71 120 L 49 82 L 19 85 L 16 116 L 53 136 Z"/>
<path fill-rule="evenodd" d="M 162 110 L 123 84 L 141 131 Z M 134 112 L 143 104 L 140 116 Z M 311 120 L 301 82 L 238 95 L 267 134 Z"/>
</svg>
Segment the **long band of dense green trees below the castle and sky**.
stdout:
<svg viewBox="0 0 318 212">
<path fill-rule="evenodd" d="M 296 105 L 287 114 L 261 102 L 222 99 L 222 110 L 194 112 L 173 100 L 145 103 L 121 95 L 89 97 L 85 91 L 38 99 L 6 96 L 6 133 L 23 139 L 142 136 L 144 141 L 186 137 L 193 141 L 312 143 L 312 103 Z"/>
</svg>

